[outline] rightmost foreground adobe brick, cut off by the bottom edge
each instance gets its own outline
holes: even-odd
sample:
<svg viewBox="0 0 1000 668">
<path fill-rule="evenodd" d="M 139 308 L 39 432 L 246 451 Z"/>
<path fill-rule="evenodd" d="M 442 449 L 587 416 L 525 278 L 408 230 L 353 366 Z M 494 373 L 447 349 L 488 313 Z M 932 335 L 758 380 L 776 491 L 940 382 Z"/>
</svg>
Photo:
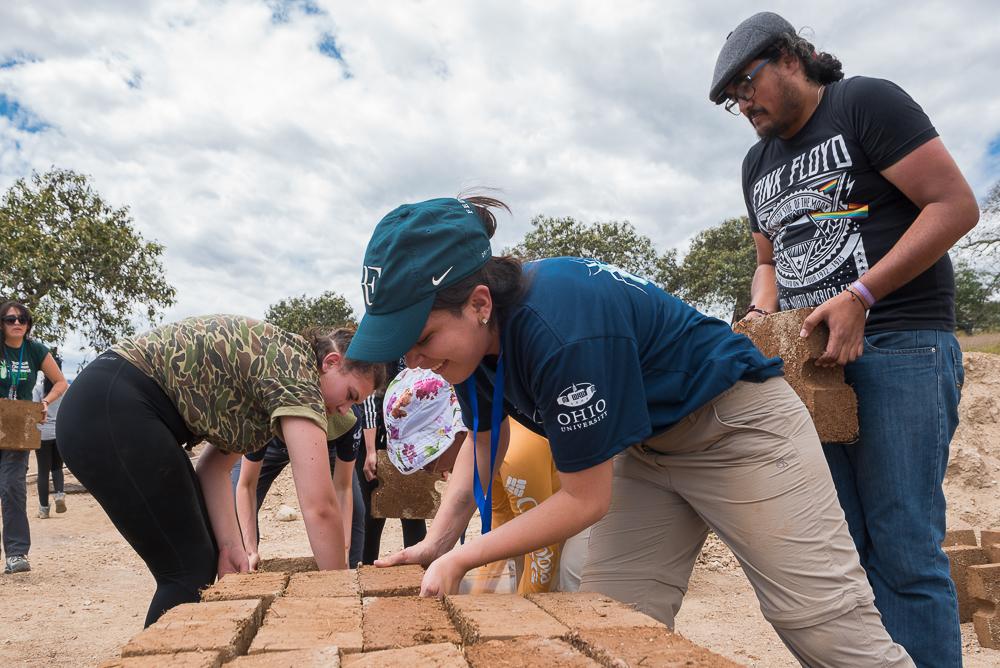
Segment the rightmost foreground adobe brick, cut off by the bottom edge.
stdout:
<svg viewBox="0 0 1000 668">
<path fill-rule="evenodd" d="M 569 641 L 604 666 L 736 668 L 740 665 L 695 645 L 665 626 L 578 631 Z"/>
</svg>

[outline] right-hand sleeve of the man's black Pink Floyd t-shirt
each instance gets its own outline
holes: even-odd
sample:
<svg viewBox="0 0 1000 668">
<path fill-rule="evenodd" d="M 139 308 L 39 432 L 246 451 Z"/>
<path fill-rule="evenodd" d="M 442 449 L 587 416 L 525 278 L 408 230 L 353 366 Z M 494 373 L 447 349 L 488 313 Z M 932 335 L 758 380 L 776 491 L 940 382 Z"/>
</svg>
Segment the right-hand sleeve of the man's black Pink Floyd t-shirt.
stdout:
<svg viewBox="0 0 1000 668">
<path fill-rule="evenodd" d="M 920 105 L 891 81 L 854 77 L 844 82 L 843 103 L 868 161 L 878 171 L 938 136 Z"/>
</svg>

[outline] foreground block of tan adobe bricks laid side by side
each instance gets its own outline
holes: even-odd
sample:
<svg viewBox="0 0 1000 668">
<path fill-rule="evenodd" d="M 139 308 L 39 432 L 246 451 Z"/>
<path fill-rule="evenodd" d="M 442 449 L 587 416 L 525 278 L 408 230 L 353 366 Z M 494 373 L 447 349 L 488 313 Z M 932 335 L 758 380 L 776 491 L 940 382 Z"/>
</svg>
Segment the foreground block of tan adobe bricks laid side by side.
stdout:
<svg viewBox="0 0 1000 668">
<path fill-rule="evenodd" d="M 312 559 L 234 574 L 168 611 L 104 668 L 182 666 L 732 667 L 593 593 L 420 598 L 418 566 L 306 571 Z"/>
</svg>

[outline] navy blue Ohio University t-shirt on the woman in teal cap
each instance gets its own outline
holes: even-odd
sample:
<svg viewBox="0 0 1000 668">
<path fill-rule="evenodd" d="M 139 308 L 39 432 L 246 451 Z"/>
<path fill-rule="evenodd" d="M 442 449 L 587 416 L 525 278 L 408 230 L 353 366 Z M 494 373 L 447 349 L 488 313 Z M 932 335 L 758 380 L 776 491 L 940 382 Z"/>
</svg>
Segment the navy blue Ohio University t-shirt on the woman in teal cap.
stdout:
<svg viewBox="0 0 1000 668">
<path fill-rule="evenodd" d="M 781 375 L 729 325 L 596 260 L 525 264 L 529 285 L 502 332 L 504 414 L 549 439 L 560 471 L 607 461 L 739 380 Z M 495 359 L 474 374 L 490 429 Z M 458 388 L 472 425 L 466 385 Z"/>
</svg>

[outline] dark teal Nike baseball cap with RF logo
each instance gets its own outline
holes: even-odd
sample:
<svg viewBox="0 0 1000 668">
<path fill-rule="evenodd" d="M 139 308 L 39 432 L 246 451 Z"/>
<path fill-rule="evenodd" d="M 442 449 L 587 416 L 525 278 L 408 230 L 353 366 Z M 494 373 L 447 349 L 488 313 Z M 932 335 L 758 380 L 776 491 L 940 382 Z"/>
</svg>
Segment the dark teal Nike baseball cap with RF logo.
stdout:
<svg viewBox="0 0 1000 668">
<path fill-rule="evenodd" d="M 438 290 L 474 273 L 492 255 L 482 219 L 464 200 L 431 199 L 389 212 L 365 251 L 365 315 L 347 356 L 399 359 L 420 337 Z"/>
</svg>

